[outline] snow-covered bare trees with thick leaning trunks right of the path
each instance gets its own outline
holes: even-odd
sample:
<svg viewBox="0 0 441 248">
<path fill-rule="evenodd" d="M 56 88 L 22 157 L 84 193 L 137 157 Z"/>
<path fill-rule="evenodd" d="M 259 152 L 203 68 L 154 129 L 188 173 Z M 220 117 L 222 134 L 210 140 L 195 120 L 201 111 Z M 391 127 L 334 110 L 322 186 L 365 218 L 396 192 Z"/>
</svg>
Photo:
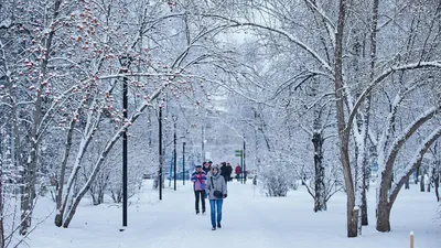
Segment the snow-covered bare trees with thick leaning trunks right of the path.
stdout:
<svg viewBox="0 0 441 248">
<path fill-rule="evenodd" d="M 338 165 L 347 193 L 349 237 L 367 225 L 368 171 L 378 164 L 376 226 L 389 231 L 399 191 L 441 134 L 440 2 L 230 3 L 239 10 L 235 17 L 211 17 L 256 35 L 247 45 L 260 60 L 256 64 L 261 86 L 272 89 L 267 94 L 270 106 L 249 108 L 256 114 L 255 137 L 267 143 L 256 148 L 282 150 L 275 161 L 288 160 L 299 177 L 302 164 L 314 164 L 314 209 L 325 209 L 338 182 L 332 168 Z M 252 120 L 249 114 L 247 118 Z M 312 141 L 310 152 L 303 153 L 310 159 L 302 158 L 305 147 L 299 139 Z M 340 162 L 333 158 L 336 150 Z M 331 173 L 324 173 L 325 168 Z M 359 216 L 355 206 L 362 208 Z"/>
</svg>

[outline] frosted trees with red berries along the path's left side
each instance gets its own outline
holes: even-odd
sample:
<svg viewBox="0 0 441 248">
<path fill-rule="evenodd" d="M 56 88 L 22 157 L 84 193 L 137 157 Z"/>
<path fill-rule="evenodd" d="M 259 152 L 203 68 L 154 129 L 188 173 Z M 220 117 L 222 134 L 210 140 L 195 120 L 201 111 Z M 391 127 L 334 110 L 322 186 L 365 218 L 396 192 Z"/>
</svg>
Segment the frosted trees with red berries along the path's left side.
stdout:
<svg viewBox="0 0 441 248">
<path fill-rule="evenodd" d="M 2 247 L 14 242 L 15 231 L 26 236 L 35 226 L 39 179 L 56 176 L 54 223 L 68 227 L 87 193 L 99 203 L 100 183 L 117 180 L 120 152 L 114 148 L 129 127 L 132 148 L 146 144 L 138 148 L 144 154 L 132 150 L 136 184 L 140 168 L 158 161 L 159 107 L 182 101 L 197 109 L 198 98 L 209 98 L 205 77 L 224 85 L 217 72 L 232 64 L 230 52 L 216 42 L 222 26 L 202 20 L 198 9 L 146 0 L 0 6 L 1 206 L 12 207 L 0 208 Z M 128 109 L 121 107 L 123 84 Z M 120 185 L 114 193 L 120 198 Z"/>
</svg>

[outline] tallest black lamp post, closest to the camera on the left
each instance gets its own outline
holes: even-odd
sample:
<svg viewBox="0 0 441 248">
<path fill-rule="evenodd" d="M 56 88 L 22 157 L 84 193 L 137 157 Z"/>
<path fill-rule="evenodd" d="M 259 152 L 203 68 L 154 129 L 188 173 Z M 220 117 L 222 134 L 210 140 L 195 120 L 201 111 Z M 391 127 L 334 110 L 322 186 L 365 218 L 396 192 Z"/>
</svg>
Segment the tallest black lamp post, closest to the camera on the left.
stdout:
<svg viewBox="0 0 441 248">
<path fill-rule="evenodd" d="M 122 115 L 125 120 L 127 120 L 128 117 L 128 85 L 127 85 L 128 78 L 123 78 L 123 84 L 122 84 Z M 127 129 L 125 132 L 122 132 L 122 226 L 127 226 L 127 201 L 128 201 L 128 194 L 127 194 Z"/>
</svg>

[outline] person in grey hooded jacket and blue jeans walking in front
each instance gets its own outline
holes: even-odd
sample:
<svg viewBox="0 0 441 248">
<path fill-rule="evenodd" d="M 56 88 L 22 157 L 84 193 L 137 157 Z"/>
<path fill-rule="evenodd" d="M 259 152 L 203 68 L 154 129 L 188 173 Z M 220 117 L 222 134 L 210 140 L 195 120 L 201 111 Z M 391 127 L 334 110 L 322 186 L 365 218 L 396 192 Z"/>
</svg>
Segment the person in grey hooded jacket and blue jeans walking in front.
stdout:
<svg viewBox="0 0 441 248">
<path fill-rule="evenodd" d="M 227 197 L 227 184 L 224 176 L 220 175 L 218 165 L 213 165 L 212 175 L 207 181 L 205 191 L 209 200 L 212 230 L 215 230 L 216 227 L 222 227 L 222 205 L 224 204 L 224 198 Z"/>
</svg>

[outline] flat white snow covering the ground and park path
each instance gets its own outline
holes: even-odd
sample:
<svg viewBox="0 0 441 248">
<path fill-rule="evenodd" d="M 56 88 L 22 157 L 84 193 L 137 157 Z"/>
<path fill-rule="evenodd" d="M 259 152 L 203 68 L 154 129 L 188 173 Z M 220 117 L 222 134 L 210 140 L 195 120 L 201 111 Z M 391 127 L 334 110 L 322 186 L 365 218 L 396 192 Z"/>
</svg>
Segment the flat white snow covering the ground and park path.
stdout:
<svg viewBox="0 0 441 248">
<path fill-rule="evenodd" d="M 149 184 L 150 182 L 147 182 Z M 196 216 L 190 183 L 179 183 L 176 192 L 164 190 L 163 201 L 146 185 L 131 198 L 129 223 L 121 227 L 118 205 L 88 205 L 85 200 L 68 229 L 47 218 L 29 238 L 32 248 L 244 248 L 244 247 L 323 247 L 323 248 L 406 248 L 409 233 L 415 231 L 416 248 L 441 247 L 441 220 L 433 193 L 420 193 L 418 186 L 402 191 L 392 208 L 391 228 L 387 234 L 375 230 L 375 192 L 369 193 L 369 223 L 358 238 L 346 238 L 345 195 L 336 194 L 325 213 L 313 213 L 313 202 L 304 188 L 288 197 L 265 197 L 250 184 L 228 184 L 224 202 L 223 228 L 211 230 L 209 215 Z M 53 212 L 49 198 L 41 200 L 35 212 Z M 209 209 L 209 207 L 207 208 Z"/>
</svg>

